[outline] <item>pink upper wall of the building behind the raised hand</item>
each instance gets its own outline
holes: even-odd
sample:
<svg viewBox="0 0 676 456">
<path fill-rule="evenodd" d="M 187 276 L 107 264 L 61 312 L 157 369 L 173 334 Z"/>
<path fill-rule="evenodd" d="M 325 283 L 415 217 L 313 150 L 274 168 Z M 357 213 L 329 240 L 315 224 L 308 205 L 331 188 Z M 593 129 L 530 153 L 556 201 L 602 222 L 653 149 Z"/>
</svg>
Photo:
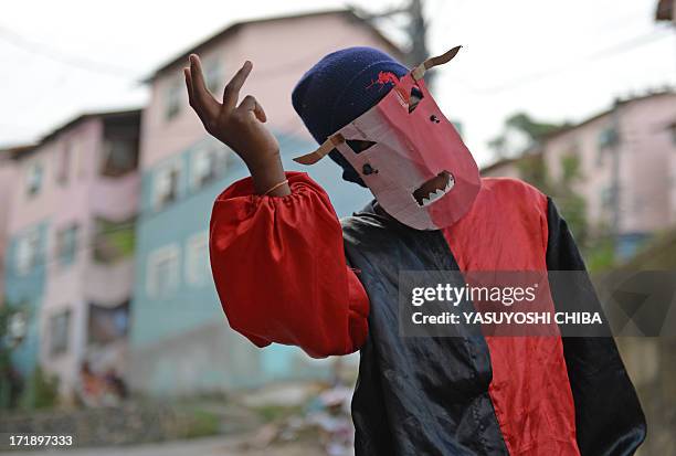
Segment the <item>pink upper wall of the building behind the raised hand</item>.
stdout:
<svg viewBox="0 0 676 456">
<path fill-rule="evenodd" d="M 199 54 L 204 66 L 214 61 L 220 64 L 221 84 L 216 97 L 222 95 L 225 82 L 244 61 L 252 61 L 254 68 L 241 98 L 254 95 L 267 114 L 268 125 L 277 131 L 311 139 L 292 107 L 292 89 L 303 73 L 324 55 L 355 45 L 377 46 L 394 55 L 398 52 L 370 26 L 348 20 L 342 13 L 327 13 L 246 23 L 234 33 L 210 43 Z M 186 57 L 152 81 L 150 102 L 142 118 L 141 168 L 150 167 L 205 136 L 188 106 L 182 74 L 187 65 Z M 172 85 L 180 86 L 181 110 L 166 121 L 163 103 Z"/>
</svg>

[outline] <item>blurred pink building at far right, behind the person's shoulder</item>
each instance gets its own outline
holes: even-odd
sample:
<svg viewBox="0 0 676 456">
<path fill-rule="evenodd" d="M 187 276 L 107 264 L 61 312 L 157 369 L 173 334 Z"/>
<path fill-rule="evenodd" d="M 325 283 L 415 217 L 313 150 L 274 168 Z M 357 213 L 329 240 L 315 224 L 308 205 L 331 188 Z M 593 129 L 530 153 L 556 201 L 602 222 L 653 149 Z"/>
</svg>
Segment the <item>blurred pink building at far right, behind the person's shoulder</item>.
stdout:
<svg viewBox="0 0 676 456">
<path fill-rule="evenodd" d="M 548 137 L 525 157 L 498 161 L 482 173 L 525 178 L 522 163 L 539 156 L 549 177 L 560 180 L 567 160 L 574 159 L 580 167 L 575 190 L 587 202 L 590 225 L 614 229 L 617 253 L 629 257 L 643 240 L 676 224 L 675 124 L 674 92 L 620 100 Z"/>
</svg>

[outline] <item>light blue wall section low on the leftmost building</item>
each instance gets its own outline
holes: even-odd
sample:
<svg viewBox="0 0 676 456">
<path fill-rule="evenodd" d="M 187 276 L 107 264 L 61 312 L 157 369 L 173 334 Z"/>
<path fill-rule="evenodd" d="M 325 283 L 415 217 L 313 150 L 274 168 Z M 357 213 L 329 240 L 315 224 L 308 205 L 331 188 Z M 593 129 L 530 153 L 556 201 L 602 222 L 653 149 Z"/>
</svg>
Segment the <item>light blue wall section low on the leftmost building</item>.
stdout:
<svg viewBox="0 0 676 456">
<path fill-rule="evenodd" d="M 29 231 L 36 230 L 39 254 L 36 264 L 23 273 L 17 268 L 19 240 Z M 46 233 L 47 222 L 29 226 L 14 234 L 9 241 L 4 257 L 4 297 L 8 305 L 25 312 L 27 333 L 21 343 L 12 350 L 12 363 L 24 375 L 29 375 L 40 359 L 40 310 L 44 297 L 46 271 Z"/>
</svg>

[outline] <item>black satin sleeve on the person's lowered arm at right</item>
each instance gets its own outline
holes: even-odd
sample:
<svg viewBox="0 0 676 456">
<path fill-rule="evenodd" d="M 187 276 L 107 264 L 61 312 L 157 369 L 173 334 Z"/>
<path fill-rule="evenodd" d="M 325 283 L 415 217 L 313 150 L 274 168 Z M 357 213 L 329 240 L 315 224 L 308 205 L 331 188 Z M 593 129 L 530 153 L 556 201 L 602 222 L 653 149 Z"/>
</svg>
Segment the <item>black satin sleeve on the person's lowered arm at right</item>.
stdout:
<svg viewBox="0 0 676 456">
<path fill-rule="evenodd" d="M 578 246 L 548 200 L 548 271 L 587 271 Z M 550 274 L 550 277 L 552 275 Z M 571 290 L 551 284 L 557 310 L 570 303 L 587 309 L 601 305 L 587 274 Z M 580 283 L 581 282 L 581 283 Z M 571 299 L 572 296 L 572 300 Z M 582 456 L 633 455 L 645 439 L 646 424 L 636 391 L 612 337 L 563 337 L 563 354 L 575 404 L 578 445 Z"/>
</svg>

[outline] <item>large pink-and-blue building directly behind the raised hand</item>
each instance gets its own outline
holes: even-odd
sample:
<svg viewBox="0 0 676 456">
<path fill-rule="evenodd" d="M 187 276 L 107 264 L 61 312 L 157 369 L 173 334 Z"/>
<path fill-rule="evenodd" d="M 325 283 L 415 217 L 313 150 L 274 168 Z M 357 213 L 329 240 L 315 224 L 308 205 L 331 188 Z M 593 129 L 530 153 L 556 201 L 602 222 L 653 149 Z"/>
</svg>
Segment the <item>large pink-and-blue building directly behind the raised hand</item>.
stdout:
<svg viewBox="0 0 676 456">
<path fill-rule="evenodd" d="M 263 105 L 286 169 L 298 170 L 291 158 L 317 145 L 293 110 L 292 89 L 324 55 L 353 45 L 402 57 L 367 21 L 350 11 L 330 11 L 235 23 L 149 78 L 129 339 L 134 390 L 187 394 L 328 373 L 321 368 L 326 361 L 278 344 L 260 350 L 228 326 L 209 266 L 209 218 L 215 197 L 247 171 L 209 137 L 189 107 L 182 68 L 190 53 L 199 53 L 209 88 L 221 96 L 225 82 L 245 60 L 252 61 L 242 97 L 253 94 Z M 349 215 L 370 199 L 365 189 L 342 182 L 330 160 L 302 170 L 327 190 L 338 215 Z M 266 286 L 265 277 L 260 284 Z"/>
</svg>

